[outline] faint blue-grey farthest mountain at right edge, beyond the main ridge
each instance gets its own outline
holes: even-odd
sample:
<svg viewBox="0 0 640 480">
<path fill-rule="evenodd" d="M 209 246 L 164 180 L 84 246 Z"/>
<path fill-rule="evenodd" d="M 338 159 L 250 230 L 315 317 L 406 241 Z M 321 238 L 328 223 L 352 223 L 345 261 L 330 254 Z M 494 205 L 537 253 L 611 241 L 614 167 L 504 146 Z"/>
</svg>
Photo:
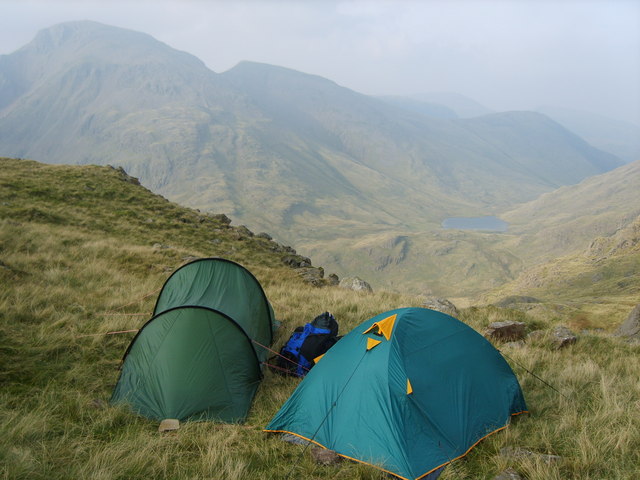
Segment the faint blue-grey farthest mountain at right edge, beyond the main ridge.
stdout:
<svg viewBox="0 0 640 480">
<path fill-rule="evenodd" d="M 590 112 L 558 107 L 540 107 L 543 113 L 600 150 L 633 162 L 640 160 L 640 126 Z"/>
</svg>

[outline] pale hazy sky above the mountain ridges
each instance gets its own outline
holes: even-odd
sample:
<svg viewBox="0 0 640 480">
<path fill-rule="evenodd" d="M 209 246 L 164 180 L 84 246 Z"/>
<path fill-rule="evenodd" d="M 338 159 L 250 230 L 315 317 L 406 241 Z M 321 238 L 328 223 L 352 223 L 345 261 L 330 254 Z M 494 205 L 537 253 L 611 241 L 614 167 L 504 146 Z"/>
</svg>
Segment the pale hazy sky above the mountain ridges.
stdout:
<svg viewBox="0 0 640 480">
<path fill-rule="evenodd" d="M 0 0 L 0 54 L 70 20 L 148 33 L 216 72 L 251 60 L 366 94 L 457 92 L 640 125 L 640 0 Z"/>
</svg>

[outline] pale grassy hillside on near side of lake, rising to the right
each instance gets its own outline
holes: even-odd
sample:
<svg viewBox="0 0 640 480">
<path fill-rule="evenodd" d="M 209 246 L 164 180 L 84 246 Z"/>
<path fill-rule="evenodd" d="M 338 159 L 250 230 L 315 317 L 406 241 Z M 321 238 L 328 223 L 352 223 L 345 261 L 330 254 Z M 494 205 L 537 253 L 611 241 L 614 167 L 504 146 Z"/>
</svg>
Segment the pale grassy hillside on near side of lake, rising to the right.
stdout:
<svg viewBox="0 0 640 480">
<path fill-rule="evenodd" d="M 397 230 L 355 240 L 308 242 L 318 262 L 358 271 L 375 286 L 457 298 L 462 303 L 523 270 L 580 252 L 640 215 L 640 162 L 561 187 L 500 213 L 506 232 Z M 325 248 L 325 247 L 329 248 Z M 331 262 L 330 262 L 331 261 Z"/>
</svg>

